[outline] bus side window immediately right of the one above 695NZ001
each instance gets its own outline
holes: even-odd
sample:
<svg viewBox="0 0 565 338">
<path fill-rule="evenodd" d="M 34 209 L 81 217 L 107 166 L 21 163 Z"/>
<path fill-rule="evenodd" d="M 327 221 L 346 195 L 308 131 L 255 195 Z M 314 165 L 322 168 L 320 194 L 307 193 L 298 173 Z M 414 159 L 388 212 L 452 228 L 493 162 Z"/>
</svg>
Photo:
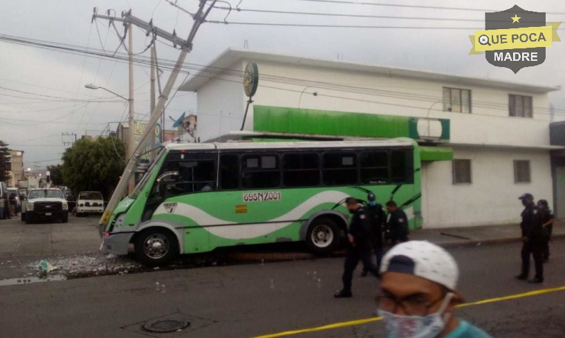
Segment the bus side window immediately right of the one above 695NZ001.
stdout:
<svg viewBox="0 0 565 338">
<path fill-rule="evenodd" d="M 319 185 L 318 154 L 284 154 L 283 185 L 285 187 L 317 187 Z"/>
</svg>

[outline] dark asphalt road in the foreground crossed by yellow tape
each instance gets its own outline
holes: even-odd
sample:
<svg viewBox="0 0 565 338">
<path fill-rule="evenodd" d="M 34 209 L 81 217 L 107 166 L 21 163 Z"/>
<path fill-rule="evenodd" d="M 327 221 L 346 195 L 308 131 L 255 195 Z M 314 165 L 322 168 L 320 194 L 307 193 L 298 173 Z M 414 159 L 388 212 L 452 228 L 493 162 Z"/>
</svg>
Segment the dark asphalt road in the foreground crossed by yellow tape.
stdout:
<svg viewBox="0 0 565 338">
<path fill-rule="evenodd" d="M 565 285 L 565 240 L 553 243 L 546 283 L 515 281 L 519 243 L 450 249 L 461 265 L 467 301 Z M 342 259 L 102 276 L 0 287 L 2 337 L 222 337 L 250 338 L 373 317 L 378 281 L 353 281 L 353 299 L 333 299 Z M 313 273 L 316 272 L 316 279 Z M 156 291 L 165 284 L 166 293 Z M 459 317 L 493 337 L 564 337 L 565 290 L 468 306 Z M 153 334 L 151 319 L 182 319 L 180 332 Z M 277 336 L 275 336 L 277 337 Z M 380 321 L 288 337 L 385 337 Z"/>
</svg>

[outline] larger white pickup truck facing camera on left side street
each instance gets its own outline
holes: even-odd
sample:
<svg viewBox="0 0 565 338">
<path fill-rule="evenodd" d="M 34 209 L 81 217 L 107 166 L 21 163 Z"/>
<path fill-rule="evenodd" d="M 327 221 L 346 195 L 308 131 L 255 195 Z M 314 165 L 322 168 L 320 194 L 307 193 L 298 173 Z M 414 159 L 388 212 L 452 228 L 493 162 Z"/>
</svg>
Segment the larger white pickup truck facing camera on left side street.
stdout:
<svg viewBox="0 0 565 338">
<path fill-rule="evenodd" d="M 30 189 L 28 198 L 21 203 L 21 220 L 33 223 L 36 220 L 68 221 L 68 203 L 60 189 Z"/>
</svg>

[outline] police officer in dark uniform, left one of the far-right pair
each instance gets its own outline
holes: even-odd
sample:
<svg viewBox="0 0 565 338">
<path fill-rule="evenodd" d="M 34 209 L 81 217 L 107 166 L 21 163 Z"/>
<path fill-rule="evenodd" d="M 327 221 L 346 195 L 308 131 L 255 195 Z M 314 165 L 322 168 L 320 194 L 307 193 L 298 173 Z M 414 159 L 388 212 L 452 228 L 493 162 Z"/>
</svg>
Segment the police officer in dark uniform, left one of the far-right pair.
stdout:
<svg viewBox="0 0 565 338">
<path fill-rule="evenodd" d="M 519 197 L 524 205 L 522 212 L 522 222 L 520 227 L 522 230 L 522 272 L 517 279 L 525 281 L 528 279 L 530 273 L 530 254 L 534 257 L 535 263 L 535 277 L 531 279 L 530 283 L 543 283 L 544 282 L 544 234 L 541 228 L 541 217 L 538 212 L 537 206 L 534 202 L 532 194 L 524 194 Z"/>
</svg>

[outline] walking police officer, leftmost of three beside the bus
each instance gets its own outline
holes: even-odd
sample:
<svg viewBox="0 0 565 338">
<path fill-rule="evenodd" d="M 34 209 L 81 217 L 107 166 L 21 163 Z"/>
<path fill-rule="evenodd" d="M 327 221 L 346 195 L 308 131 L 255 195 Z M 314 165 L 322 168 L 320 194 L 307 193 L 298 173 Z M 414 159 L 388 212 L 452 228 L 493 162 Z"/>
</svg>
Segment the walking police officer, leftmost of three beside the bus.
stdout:
<svg viewBox="0 0 565 338">
<path fill-rule="evenodd" d="M 371 262 L 371 236 L 369 232 L 369 218 L 367 212 L 357 199 L 349 197 L 345 200 L 349 212 L 353 214 L 349 225 L 349 247 L 345 256 L 344 271 L 342 275 L 343 289 L 334 294 L 335 298 L 352 297 L 351 281 L 353 270 L 359 261 L 362 261 L 365 268 L 378 276 L 378 268 Z"/>
</svg>

